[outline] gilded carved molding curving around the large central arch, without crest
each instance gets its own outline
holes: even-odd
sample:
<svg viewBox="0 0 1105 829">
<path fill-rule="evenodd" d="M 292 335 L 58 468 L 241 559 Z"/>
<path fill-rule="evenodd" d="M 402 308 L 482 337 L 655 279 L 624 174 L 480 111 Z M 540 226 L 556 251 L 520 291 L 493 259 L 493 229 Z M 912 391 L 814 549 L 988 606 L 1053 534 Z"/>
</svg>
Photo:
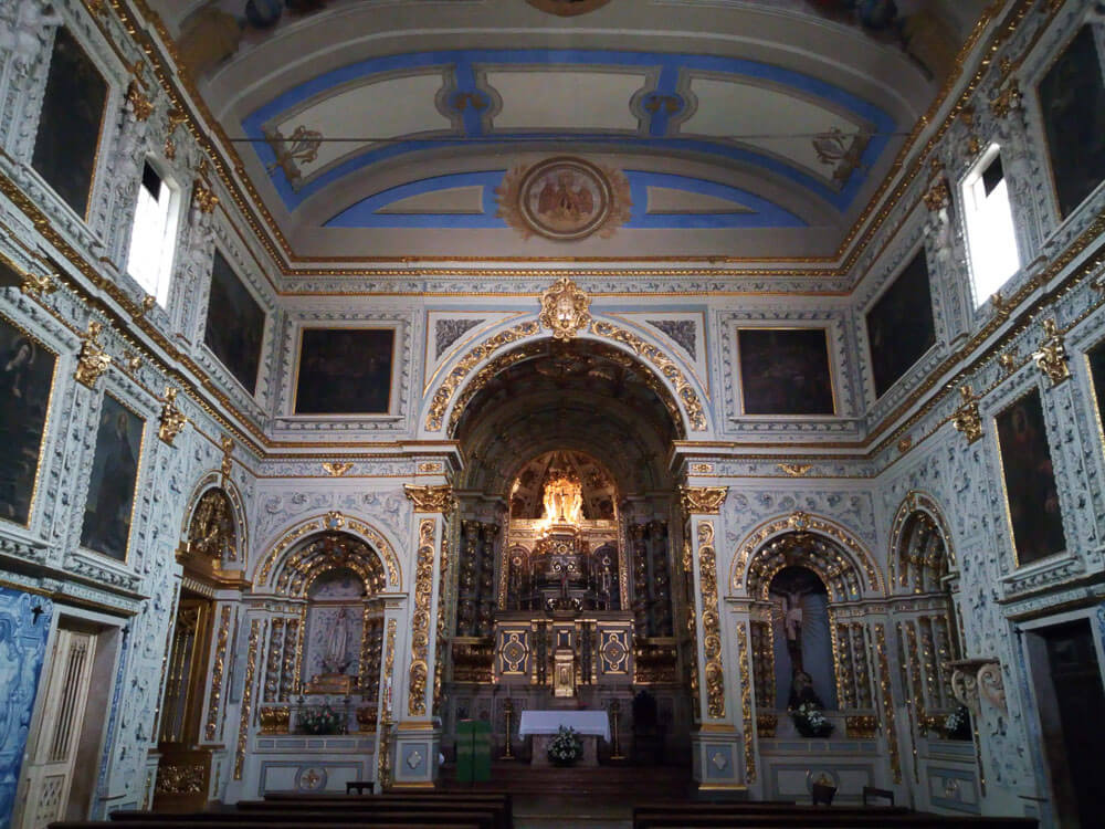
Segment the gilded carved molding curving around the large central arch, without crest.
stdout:
<svg viewBox="0 0 1105 829">
<path fill-rule="evenodd" d="M 464 407 L 480 389 L 503 369 L 539 354 L 547 342 L 552 339 L 551 335 L 538 337 L 541 334 L 540 323 L 530 319 L 501 330 L 470 348 L 430 395 L 424 420 L 425 430 L 440 432 L 444 428 L 452 436 Z M 645 377 L 655 380 L 653 390 L 660 395 L 684 433 L 708 430 L 706 411 L 698 390 L 687 374 L 680 368 L 676 358 L 670 356 L 663 348 L 603 319 L 592 319 L 577 336 L 580 339 L 613 344 L 619 350 L 634 357 L 645 369 Z M 520 347 L 503 350 L 516 344 L 520 344 Z"/>
</svg>

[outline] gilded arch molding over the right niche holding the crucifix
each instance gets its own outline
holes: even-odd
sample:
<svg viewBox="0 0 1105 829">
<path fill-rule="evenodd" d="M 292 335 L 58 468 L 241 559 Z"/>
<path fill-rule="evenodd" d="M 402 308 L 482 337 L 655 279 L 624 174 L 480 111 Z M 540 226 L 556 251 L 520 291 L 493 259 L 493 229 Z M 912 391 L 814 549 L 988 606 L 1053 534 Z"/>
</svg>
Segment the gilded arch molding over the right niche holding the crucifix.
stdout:
<svg viewBox="0 0 1105 829">
<path fill-rule="evenodd" d="M 801 562 L 788 557 L 783 536 L 801 537 L 806 553 Z M 772 547 L 776 539 L 778 545 Z M 833 601 L 886 595 L 882 574 L 866 547 L 834 521 L 803 512 L 771 518 L 745 537 L 733 557 L 730 588 L 767 600 L 771 578 L 789 564 L 810 567 L 821 576 Z"/>
</svg>

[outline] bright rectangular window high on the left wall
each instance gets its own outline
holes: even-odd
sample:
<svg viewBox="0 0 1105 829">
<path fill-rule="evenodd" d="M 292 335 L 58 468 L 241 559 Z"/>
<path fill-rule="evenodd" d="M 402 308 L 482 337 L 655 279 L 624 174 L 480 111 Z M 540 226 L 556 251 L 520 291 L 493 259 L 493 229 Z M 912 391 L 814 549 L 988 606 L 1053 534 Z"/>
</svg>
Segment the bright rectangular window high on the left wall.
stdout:
<svg viewBox="0 0 1105 829">
<path fill-rule="evenodd" d="M 130 254 L 127 272 L 143 291 L 152 294 L 165 307 L 169 301 L 172 253 L 177 237 L 180 189 L 162 178 L 147 161 L 143 165 L 141 186 L 130 229 Z"/>
</svg>

